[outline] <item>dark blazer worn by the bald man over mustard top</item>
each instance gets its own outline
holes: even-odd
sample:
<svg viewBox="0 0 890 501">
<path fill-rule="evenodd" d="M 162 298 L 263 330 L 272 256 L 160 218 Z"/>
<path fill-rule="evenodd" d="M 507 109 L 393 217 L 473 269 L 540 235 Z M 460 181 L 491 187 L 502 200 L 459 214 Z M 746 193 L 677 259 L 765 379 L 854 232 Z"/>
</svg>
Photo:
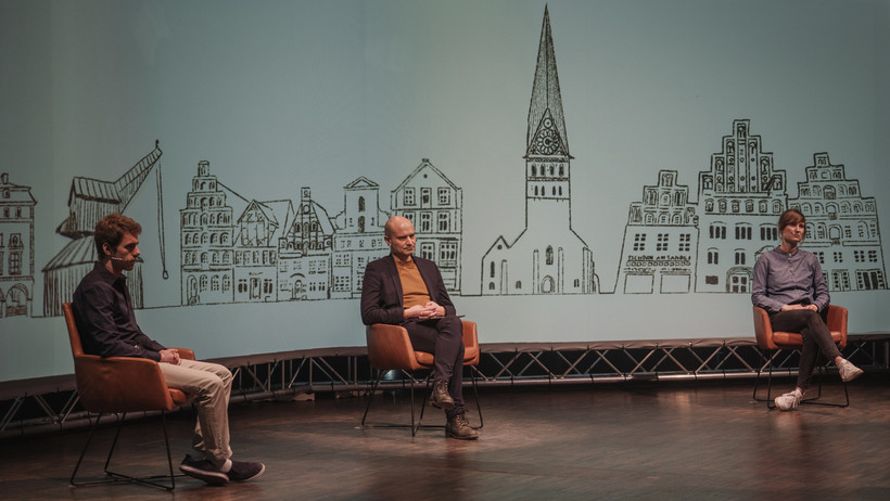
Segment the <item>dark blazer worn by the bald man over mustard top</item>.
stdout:
<svg viewBox="0 0 890 501">
<path fill-rule="evenodd" d="M 404 293 L 402 280 L 392 255 L 377 259 L 365 268 L 365 279 L 361 285 L 361 322 L 365 325 L 372 323 L 389 323 L 399 325 L 405 323 Z M 445 307 L 445 314 L 455 314 L 455 305 L 448 297 L 448 291 L 442 281 L 442 273 L 435 262 L 414 256 L 420 277 L 427 284 L 430 300 Z"/>
</svg>

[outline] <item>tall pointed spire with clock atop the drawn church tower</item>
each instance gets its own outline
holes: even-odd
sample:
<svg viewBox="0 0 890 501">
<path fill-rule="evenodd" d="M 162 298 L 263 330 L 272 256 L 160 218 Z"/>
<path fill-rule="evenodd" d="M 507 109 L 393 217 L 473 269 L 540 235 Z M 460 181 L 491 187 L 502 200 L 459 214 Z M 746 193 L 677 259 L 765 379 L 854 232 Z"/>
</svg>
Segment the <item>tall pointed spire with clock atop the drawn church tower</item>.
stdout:
<svg viewBox="0 0 890 501">
<path fill-rule="evenodd" d="M 525 156 L 541 155 L 569 156 L 554 38 L 550 34 L 550 13 L 547 7 L 544 8 L 544 24 L 541 28 L 541 44 L 537 50 L 537 67 L 532 86 L 525 139 Z"/>
</svg>

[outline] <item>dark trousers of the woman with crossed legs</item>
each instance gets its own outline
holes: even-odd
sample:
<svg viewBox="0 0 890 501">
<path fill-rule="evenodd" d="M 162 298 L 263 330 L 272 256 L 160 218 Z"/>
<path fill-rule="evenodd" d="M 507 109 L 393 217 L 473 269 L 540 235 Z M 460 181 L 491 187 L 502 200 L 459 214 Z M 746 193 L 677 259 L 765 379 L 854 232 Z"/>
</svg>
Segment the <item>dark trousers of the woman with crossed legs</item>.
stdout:
<svg viewBox="0 0 890 501">
<path fill-rule="evenodd" d="M 810 387 L 810 377 L 819 350 L 834 362 L 840 357 L 840 350 L 831 339 L 831 332 L 825 324 L 825 319 L 813 310 L 779 311 L 770 317 L 773 331 L 799 332 L 803 337 L 803 347 L 800 350 L 800 368 L 798 370 L 798 386 Z"/>
</svg>

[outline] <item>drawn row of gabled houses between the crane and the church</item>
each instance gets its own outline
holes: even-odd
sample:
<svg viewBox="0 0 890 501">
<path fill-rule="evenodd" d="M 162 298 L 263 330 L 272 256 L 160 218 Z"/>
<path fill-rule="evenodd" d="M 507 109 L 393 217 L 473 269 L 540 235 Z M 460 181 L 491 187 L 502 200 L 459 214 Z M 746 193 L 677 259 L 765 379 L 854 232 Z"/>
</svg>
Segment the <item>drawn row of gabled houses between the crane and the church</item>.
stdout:
<svg viewBox="0 0 890 501">
<path fill-rule="evenodd" d="M 459 293 L 461 189 L 423 158 L 390 198 L 417 226 L 419 254 Z M 389 217 L 380 185 L 364 176 L 343 187 L 343 210 L 330 216 L 309 187 L 297 204 L 247 200 L 202 160 L 180 209 L 181 305 L 360 297 L 367 264 L 390 254 Z"/>
</svg>

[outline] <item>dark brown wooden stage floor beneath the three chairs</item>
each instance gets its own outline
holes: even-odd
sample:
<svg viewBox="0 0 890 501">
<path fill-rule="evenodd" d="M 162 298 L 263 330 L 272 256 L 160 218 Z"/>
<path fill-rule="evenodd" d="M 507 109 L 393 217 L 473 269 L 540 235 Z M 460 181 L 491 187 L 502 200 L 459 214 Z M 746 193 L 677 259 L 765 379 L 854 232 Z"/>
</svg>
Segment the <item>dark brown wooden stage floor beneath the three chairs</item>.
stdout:
<svg viewBox="0 0 890 501">
<path fill-rule="evenodd" d="M 841 390 L 828 380 L 825 399 Z M 779 389 L 791 383 L 780 380 Z M 267 466 L 253 483 L 207 487 L 182 477 L 173 493 L 72 488 L 87 437 L 77 429 L 0 441 L 0 499 L 887 500 L 888 383 L 887 374 L 866 374 L 850 385 L 849 408 L 790 412 L 754 402 L 747 382 L 488 387 L 481 389 L 485 425 L 476 441 L 445 439 L 441 428 L 415 438 L 407 429 L 361 429 L 367 397 L 239 403 L 230 409 L 236 459 Z M 407 394 L 386 393 L 374 403 L 374 421 L 409 419 Z M 441 411 L 431 411 L 425 423 L 441 424 Z M 168 424 L 178 463 L 192 414 Z M 112 432 L 99 432 L 88 475 L 101 476 Z M 160 421 L 128 423 L 124 434 L 124 466 L 163 467 Z"/>
</svg>

